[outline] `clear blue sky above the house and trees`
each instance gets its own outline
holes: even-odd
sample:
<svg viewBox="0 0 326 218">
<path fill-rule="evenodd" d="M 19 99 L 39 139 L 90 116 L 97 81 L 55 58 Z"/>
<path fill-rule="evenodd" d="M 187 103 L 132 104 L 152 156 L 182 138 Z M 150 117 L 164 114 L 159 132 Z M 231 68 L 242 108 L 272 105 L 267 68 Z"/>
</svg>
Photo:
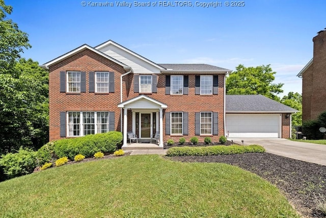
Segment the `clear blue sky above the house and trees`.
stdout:
<svg viewBox="0 0 326 218">
<path fill-rule="evenodd" d="M 238 64 L 271 64 L 275 83 L 284 83 L 283 96 L 302 92 L 296 74 L 312 58 L 312 38 L 326 28 L 324 0 L 247 0 L 241 7 L 226 7 L 226 1 L 218 1 L 218 7 L 136 1 L 151 6 L 135 7 L 135 1 L 125 1 L 130 8 L 117 6 L 123 1 L 85 1 L 84 7 L 82 2 L 5 0 L 13 6 L 9 18 L 29 34 L 32 49 L 22 57 L 43 64 L 82 44 L 112 39 L 156 63 L 207 63 L 231 70 Z"/>
</svg>

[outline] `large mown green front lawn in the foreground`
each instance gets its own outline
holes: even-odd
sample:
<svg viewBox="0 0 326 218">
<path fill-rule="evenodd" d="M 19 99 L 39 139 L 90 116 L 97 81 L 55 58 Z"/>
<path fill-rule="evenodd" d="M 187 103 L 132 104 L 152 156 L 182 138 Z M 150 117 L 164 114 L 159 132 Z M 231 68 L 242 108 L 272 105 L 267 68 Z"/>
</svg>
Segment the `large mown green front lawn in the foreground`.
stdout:
<svg viewBox="0 0 326 218">
<path fill-rule="evenodd" d="M 0 217 L 298 217 L 280 191 L 223 163 L 137 155 L 0 183 Z"/>
</svg>

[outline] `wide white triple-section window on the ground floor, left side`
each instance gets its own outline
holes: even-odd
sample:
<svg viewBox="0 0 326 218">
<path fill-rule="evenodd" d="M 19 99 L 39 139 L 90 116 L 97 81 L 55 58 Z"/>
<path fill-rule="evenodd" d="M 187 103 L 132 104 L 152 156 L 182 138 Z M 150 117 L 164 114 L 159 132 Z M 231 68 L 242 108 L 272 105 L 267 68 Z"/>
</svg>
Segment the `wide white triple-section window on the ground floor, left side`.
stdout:
<svg viewBox="0 0 326 218">
<path fill-rule="evenodd" d="M 67 112 L 68 136 L 85 136 L 110 131 L 109 112 Z"/>
</svg>

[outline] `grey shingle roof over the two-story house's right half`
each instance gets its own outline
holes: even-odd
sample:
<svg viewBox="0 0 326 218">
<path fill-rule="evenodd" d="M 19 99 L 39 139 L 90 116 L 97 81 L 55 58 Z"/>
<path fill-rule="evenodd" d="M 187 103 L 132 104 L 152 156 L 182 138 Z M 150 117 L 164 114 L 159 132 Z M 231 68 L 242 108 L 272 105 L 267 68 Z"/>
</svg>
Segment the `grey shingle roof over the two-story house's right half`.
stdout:
<svg viewBox="0 0 326 218">
<path fill-rule="evenodd" d="M 231 71 L 218 66 L 213 66 L 209 64 L 158 64 L 166 69 L 173 70 L 225 70 Z"/>
</svg>

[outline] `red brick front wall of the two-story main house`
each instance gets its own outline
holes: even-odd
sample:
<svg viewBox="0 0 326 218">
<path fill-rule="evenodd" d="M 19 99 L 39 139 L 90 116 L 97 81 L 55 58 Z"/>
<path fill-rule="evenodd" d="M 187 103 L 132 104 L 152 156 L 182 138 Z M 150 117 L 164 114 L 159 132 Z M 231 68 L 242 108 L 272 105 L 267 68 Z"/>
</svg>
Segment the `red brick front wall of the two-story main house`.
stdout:
<svg viewBox="0 0 326 218">
<path fill-rule="evenodd" d="M 76 70 L 86 71 L 86 92 L 67 94 L 60 92 L 60 71 Z M 85 50 L 49 67 L 49 104 L 50 104 L 50 141 L 60 139 L 60 112 L 61 111 L 115 111 L 115 129 L 120 131 L 120 76 L 126 71 L 122 66 L 90 51 Z M 115 72 L 115 92 L 108 94 L 89 93 L 89 71 Z M 184 74 L 186 75 L 186 73 Z M 195 95 L 195 75 L 189 75 L 189 88 L 187 95 L 166 95 L 165 75 L 157 77 L 157 93 L 146 94 L 150 98 L 165 103 L 168 108 L 164 110 L 163 132 L 165 133 L 165 112 L 188 112 L 189 140 L 195 136 L 195 112 L 212 111 L 219 113 L 219 135 L 212 136 L 218 141 L 224 135 L 224 77 L 219 75 L 219 94 Z M 123 101 L 134 98 L 140 93 L 133 92 L 133 74 L 123 78 Z M 131 112 L 128 113 L 128 130 L 131 130 Z M 200 141 L 204 137 L 199 137 Z M 180 137 L 164 135 L 164 141 L 173 138 L 178 141 Z"/>
</svg>

